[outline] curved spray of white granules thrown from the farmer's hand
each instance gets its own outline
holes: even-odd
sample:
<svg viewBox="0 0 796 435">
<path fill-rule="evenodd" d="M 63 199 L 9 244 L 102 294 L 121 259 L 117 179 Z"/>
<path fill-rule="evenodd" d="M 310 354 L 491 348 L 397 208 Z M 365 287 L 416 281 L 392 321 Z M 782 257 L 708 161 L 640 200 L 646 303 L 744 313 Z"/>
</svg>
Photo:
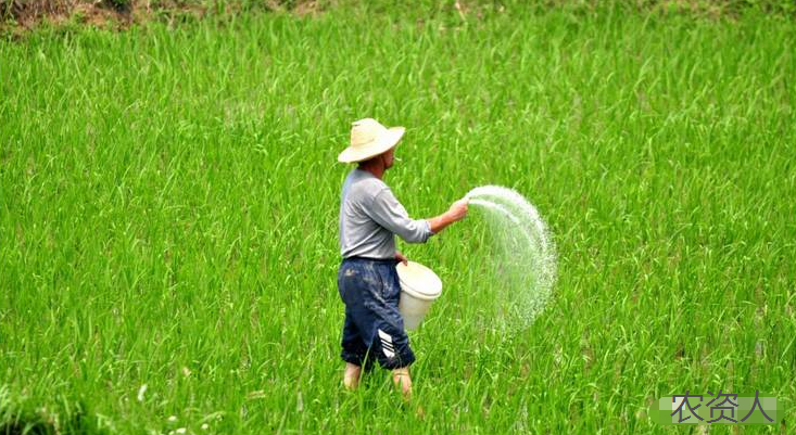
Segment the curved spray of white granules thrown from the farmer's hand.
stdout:
<svg viewBox="0 0 796 435">
<path fill-rule="evenodd" d="M 522 195 L 500 185 L 483 185 L 466 195 L 488 212 L 490 235 L 501 256 L 494 291 L 505 320 L 530 324 L 544 309 L 556 280 L 556 251 L 539 212 Z"/>
</svg>

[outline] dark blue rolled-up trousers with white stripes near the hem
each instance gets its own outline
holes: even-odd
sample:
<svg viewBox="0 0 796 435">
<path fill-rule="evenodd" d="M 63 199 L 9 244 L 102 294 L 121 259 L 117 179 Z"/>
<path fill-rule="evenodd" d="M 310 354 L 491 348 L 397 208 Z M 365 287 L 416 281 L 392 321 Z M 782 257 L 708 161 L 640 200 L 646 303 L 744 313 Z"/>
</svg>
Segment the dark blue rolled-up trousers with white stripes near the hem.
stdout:
<svg viewBox="0 0 796 435">
<path fill-rule="evenodd" d="M 346 258 L 338 271 L 338 290 L 345 304 L 340 357 L 366 370 L 374 358 L 388 370 L 415 361 L 404 319 L 397 310 L 401 285 L 396 260 Z"/>
</svg>

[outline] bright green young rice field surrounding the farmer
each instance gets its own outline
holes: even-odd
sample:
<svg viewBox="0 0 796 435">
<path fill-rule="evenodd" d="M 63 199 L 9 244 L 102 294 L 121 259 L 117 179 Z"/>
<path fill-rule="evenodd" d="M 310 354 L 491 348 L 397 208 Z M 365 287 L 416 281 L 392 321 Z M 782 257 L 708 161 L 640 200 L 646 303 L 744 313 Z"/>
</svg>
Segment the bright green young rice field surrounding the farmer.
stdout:
<svg viewBox="0 0 796 435">
<path fill-rule="evenodd" d="M 785 409 L 744 432 L 793 431 L 793 23 L 467 20 L 346 8 L 0 42 L 0 415 L 681 433 L 653 401 L 723 388 Z M 365 116 L 407 127 L 387 180 L 414 216 L 510 187 L 559 253 L 547 309 L 505 333 L 477 210 L 402 246 L 445 284 L 410 335 L 408 406 L 381 371 L 341 391 L 336 157 Z"/>
</svg>

